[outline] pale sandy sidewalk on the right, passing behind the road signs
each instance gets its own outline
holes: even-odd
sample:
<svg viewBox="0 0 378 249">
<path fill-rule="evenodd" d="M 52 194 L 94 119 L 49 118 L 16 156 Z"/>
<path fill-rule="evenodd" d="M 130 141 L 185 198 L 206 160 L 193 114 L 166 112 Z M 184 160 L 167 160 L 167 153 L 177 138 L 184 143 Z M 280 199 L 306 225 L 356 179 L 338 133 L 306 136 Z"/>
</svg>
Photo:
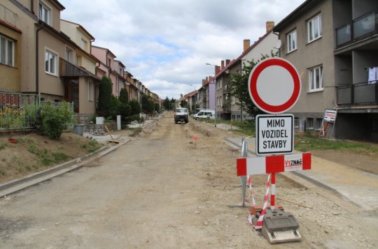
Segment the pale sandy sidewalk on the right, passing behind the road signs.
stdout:
<svg viewBox="0 0 378 249">
<path fill-rule="evenodd" d="M 226 138 L 225 140 L 230 146 L 241 148 L 241 137 Z M 248 156 L 256 156 L 255 138 L 246 139 L 246 142 Z M 300 152 L 296 151 L 295 153 Z M 311 170 L 283 174 L 294 181 L 295 176 L 300 176 L 317 186 L 332 190 L 365 211 L 378 208 L 378 175 L 376 174 L 363 172 L 316 156 L 311 156 Z"/>
</svg>

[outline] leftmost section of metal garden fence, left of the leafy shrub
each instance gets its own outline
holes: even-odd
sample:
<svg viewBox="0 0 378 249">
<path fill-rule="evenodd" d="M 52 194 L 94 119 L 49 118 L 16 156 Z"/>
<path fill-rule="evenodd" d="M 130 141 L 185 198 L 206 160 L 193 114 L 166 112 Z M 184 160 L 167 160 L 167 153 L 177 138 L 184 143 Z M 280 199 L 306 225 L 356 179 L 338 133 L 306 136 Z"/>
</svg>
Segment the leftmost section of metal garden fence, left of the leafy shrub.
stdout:
<svg viewBox="0 0 378 249">
<path fill-rule="evenodd" d="M 0 130 L 36 127 L 38 94 L 0 92 Z"/>
</svg>

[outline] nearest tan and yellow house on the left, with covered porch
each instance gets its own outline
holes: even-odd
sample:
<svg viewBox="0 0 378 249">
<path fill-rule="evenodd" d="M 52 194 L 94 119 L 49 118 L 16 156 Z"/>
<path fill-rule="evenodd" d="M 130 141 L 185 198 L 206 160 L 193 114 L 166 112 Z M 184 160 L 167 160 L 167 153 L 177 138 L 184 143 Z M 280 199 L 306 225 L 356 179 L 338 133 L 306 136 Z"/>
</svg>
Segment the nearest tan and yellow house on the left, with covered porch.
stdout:
<svg viewBox="0 0 378 249">
<path fill-rule="evenodd" d="M 9 0 L 0 10 L 1 91 L 38 93 L 41 100 L 70 101 L 75 112 L 94 114 L 97 59 L 89 45 L 80 47 L 62 31 L 64 6 L 56 0 Z"/>
</svg>

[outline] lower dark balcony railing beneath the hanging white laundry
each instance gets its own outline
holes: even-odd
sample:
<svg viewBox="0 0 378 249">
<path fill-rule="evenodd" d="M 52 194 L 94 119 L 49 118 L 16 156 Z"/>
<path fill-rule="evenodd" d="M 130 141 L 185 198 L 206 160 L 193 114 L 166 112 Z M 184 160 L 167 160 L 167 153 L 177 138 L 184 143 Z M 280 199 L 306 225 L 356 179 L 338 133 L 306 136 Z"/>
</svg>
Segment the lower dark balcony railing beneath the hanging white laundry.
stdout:
<svg viewBox="0 0 378 249">
<path fill-rule="evenodd" d="M 378 105 L 378 82 L 337 86 L 337 105 Z"/>
</svg>

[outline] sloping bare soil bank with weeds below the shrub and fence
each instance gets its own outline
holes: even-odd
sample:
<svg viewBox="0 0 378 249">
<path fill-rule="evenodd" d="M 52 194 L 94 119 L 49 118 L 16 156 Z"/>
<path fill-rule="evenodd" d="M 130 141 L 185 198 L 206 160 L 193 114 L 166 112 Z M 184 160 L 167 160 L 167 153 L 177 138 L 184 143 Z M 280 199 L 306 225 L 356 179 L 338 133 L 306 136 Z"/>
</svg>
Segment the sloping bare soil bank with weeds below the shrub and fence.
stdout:
<svg viewBox="0 0 378 249">
<path fill-rule="evenodd" d="M 59 140 L 34 133 L 0 136 L 0 183 L 85 156 L 104 144 L 74 133 L 63 133 Z"/>
</svg>

